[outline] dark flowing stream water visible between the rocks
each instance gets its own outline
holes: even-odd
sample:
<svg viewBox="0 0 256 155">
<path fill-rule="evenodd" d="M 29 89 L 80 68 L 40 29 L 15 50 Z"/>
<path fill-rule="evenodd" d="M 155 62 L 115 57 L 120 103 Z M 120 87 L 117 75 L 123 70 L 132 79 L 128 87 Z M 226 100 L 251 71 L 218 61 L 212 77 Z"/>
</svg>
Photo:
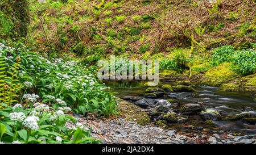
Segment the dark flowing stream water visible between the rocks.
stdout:
<svg viewBox="0 0 256 155">
<path fill-rule="evenodd" d="M 139 81 L 105 81 L 106 85 L 112 87 L 118 96 L 143 96 L 145 87 L 141 87 Z M 250 94 L 219 91 L 218 87 L 197 86 L 198 96 L 192 93 L 170 93 L 160 99 L 177 99 L 181 104 L 202 103 L 205 108 L 219 111 L 223 116 L 236 115 L 245 111 L 256 111 L 256 102 L 250 98 Z M 157 99 L 157 100 L 158 100 Z M 184 124 L 171 124 L 171 129 L 188 131 L 188 125 L 203 128 L 220 128 L 224 131 L 237 131 L 242 133 L 256 134 L 256 125 L 249 125 L 241 121 L 223 122 L 214 121 L 214 127 L 205 123 L 200 116 L 189 116 L 189 121 Z"/>
</svg>

